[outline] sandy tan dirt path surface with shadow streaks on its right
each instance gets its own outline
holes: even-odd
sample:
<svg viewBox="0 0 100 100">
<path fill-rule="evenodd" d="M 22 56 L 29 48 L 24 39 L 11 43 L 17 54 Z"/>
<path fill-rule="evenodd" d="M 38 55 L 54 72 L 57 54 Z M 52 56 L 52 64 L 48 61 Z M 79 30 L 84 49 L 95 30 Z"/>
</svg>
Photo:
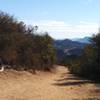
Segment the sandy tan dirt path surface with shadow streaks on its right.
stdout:
<svg viewBox="0 0 100 100">
<path fill-rule="evenodd" d="M 0 73 L 0 100 L 100 100 L 100 84 L 77 78 L 63 66 L 55 71 Z"/>
</svg>

